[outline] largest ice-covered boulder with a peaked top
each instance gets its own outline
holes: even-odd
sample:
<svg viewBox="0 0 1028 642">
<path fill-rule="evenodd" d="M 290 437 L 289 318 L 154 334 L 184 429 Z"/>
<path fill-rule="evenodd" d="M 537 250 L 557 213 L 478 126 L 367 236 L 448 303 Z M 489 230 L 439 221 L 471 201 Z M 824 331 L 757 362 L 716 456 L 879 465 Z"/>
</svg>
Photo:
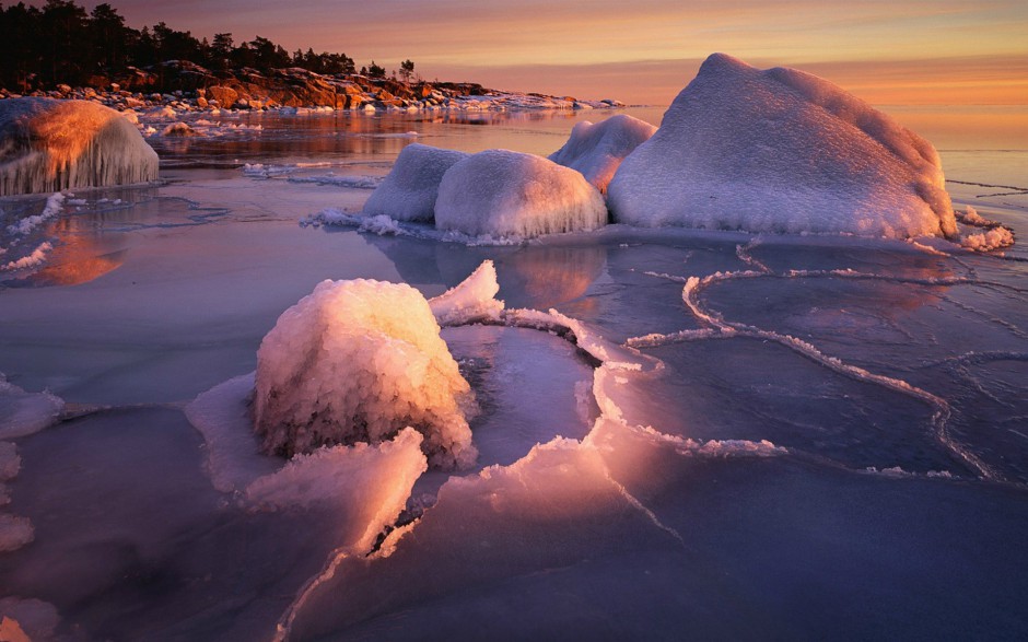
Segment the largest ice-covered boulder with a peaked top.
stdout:
<svg viewBox="0 0 1028 642">
<path fill-rule="evenodd" d="M 930 142 L 832 83 L 714 54 L 607 194 L 618 222 L 956 235 Z"/>
</svg>

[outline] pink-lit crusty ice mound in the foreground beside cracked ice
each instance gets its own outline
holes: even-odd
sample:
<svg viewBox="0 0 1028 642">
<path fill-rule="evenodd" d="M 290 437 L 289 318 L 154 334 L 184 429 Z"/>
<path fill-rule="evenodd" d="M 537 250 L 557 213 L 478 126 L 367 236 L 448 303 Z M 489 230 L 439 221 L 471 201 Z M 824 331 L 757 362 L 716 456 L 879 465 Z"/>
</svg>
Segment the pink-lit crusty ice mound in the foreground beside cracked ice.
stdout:
<svg viewBox="0 0 1028 642">
<path fill-rule="evenodd" d="M 406 284 L 323 281 L 287 310 L 257 351 L 255 430 L 292 456 L 330 444 L 424 435 L 429 463 L 475 462 L 470 387 L 428 302 Z"/>
</svg>

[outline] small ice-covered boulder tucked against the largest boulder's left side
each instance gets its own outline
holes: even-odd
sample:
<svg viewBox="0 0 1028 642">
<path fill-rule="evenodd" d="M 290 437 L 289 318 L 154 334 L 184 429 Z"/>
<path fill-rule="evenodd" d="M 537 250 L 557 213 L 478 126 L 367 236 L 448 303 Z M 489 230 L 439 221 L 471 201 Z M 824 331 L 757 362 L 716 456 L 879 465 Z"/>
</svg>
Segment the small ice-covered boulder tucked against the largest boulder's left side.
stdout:
<svg viewBox="0 0 1028 642">
<path fill-rule="evenodd" d="M 618 114 L 597 124 L 583 120 L 571 130 L 571 138 L 549 159 L 558 165 L 577 170 L 585 179 L 606 192 L 607 184 L 621 161 L 650 140 L 656 127 L 627 114 Z"/>
</svg>

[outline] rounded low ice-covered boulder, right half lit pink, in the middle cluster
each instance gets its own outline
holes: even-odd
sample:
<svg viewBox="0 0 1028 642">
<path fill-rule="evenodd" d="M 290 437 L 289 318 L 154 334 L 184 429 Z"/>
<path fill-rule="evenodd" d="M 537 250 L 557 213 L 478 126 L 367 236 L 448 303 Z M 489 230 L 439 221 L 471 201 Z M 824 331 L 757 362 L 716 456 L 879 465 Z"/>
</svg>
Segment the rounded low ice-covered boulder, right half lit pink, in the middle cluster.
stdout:
<svg viewBox="0 0 1028 642">
<path fill-rule="evenodd" d="M 465 159 L 443 176 L 435 226 L 471 236 L 531 237 L 607 223 L 599 191 L 574 170 L 507 150 Z"/>
</svg>

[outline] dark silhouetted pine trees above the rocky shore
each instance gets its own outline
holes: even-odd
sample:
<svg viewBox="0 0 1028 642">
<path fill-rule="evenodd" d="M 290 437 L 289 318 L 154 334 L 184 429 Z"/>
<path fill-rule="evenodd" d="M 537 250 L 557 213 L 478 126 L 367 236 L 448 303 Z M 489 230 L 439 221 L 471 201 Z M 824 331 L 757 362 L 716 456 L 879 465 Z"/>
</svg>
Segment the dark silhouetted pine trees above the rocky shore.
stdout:
<svg viewBox="0 0 1028 642">
<path fill-rule="evenodd" d="M 101 78 L 117 77 L 129 67 L 165 60 L 188 60 L 215 73 L 244 67 L 261 72 L 282 67 L 326 74 L 358 71 L 346 54 L 315 54 L 309 48 L 290 54 L 260 36 L 240 44 L 231 33 L 197 39 L 163 22 L 135 30 L 107 3 L 92 12 L 70 0 L 47 0 L 42 9 L 24 2 L 5 9 L 0 4 L 0 86 L 28 92 L 57 83 L 97 84 Z M 413 69 L 414 63 L 405 60 L 400 75 L 409 81 Z M 372 78 L 386 74 L 374 60 L 360 71 Z"/>
</svg>

